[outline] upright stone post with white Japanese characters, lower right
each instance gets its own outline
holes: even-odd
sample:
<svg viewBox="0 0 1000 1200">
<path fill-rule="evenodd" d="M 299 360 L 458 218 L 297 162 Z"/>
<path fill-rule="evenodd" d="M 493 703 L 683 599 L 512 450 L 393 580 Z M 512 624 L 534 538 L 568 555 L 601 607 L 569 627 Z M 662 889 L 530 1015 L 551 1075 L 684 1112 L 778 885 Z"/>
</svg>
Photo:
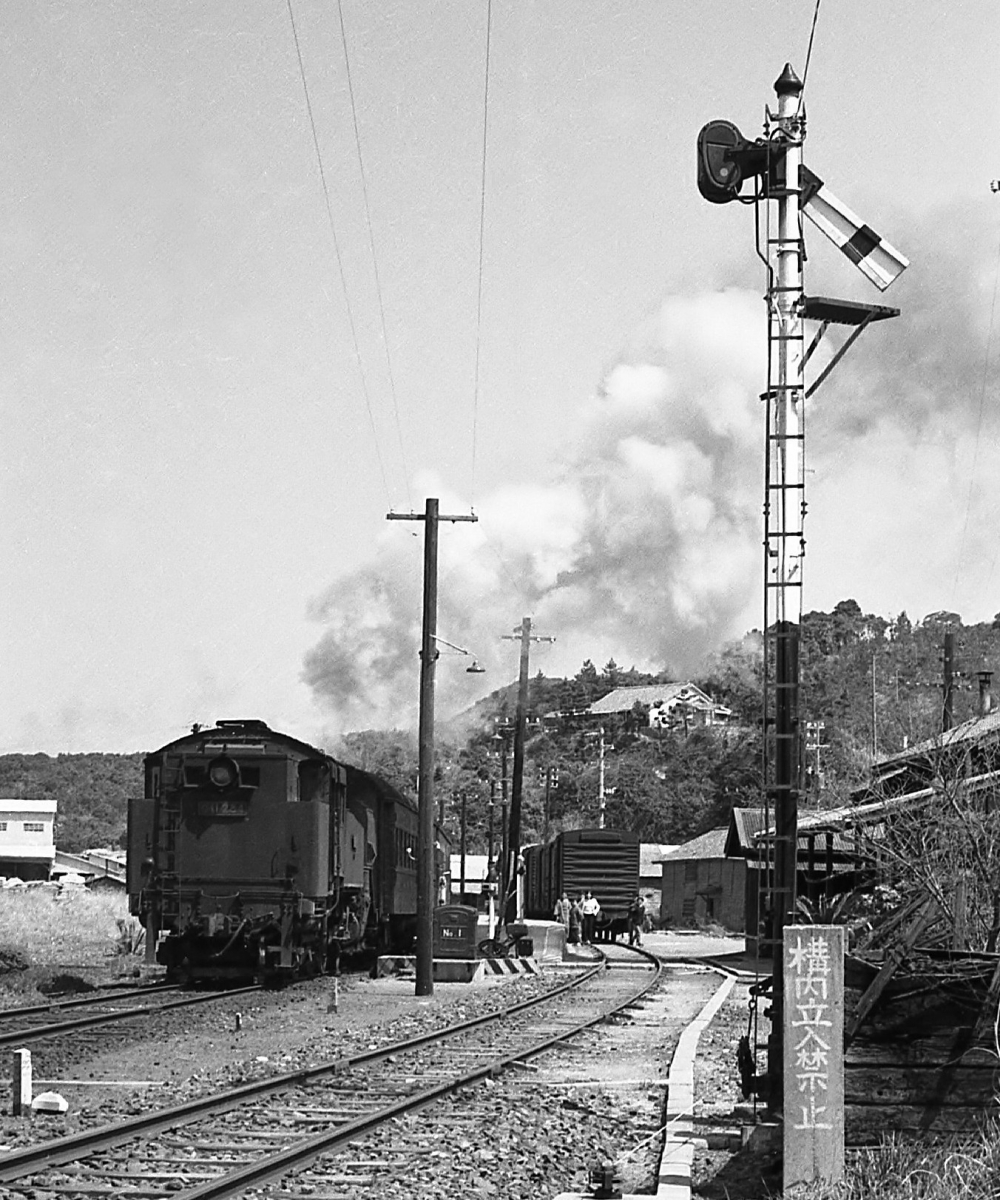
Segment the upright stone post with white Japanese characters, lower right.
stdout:
<svg viewBox="0 0 1000 1200">
<path fill-rule="evenodd" d="M 844 926 L 788 925 L 784 1187 L 844 1175 Z"/>
</svg>

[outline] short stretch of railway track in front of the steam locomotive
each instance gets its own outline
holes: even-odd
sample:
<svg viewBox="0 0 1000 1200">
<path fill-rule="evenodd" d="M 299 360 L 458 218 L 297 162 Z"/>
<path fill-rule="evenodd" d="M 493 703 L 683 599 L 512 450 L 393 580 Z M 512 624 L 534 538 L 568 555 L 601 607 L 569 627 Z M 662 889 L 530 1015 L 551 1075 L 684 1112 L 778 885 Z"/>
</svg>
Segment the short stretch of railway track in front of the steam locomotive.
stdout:
<svg viewBox="0 0 1000 1200">
<path fill-rule="evenodd" d="M 46 1004 L 4 1008 L 0 1009 L 0 1046 L 28 1045 L 32 1042 L 64 1037 L 98 1025 L 157 1016 L 160 1013 L 174 1008 L 211 1003 L 214 1000 L 227 1000 L 259 990 L 258 985 L 253 985 L 233 988 L 228 991 L 181 994 L 182 990 L 173 984 L 155 984 L 149 988 L 133 988 L 131 991 L 89 994 Z M 137 997 L 151 997 L 151 1002 L 136 1004 Z M 83 1015 L 64 1016 L 61 1015 L 64 1012 L 82 1013 Z"/>
</svg>

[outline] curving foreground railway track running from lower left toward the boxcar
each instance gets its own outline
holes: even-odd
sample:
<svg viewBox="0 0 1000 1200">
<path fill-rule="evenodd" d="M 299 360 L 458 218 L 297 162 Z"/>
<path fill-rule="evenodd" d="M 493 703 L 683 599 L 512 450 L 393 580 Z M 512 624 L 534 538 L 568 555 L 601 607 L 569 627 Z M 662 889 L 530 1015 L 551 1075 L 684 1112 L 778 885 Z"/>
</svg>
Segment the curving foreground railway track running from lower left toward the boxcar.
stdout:
<svg viewBox="0 0 1000 1200">
<path fill-rule="evenodd" d="M 349 1196 L 379 1165 L 358 1170 L 359 1139 L 573 1038 L 655 985 L 652 955 L 607 950 L 545 995 L 484 1016 L 0 1157 L 2 1194 Z M 417 1156 L 426 1130 L 423 1140 L 400 1142 L 394 1130 L 394 1156 Z M 345 1152 L 349 1163 L 339 1165 Z"/>
</svg>

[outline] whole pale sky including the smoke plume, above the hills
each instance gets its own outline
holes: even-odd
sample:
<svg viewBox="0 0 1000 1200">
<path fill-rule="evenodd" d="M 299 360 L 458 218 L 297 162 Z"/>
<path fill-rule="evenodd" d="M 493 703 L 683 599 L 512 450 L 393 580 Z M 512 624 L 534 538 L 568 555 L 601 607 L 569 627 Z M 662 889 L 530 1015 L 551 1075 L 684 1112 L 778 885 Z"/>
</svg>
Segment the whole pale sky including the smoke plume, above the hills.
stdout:
<svg viewBox="0 0 1000 1200">
<path fill-rule="evenodd" d="M 815 14 L 8 0 L 0 751 L 411 727 L 423 523 L 385 517 L 429 497 L 478 517 L 438 632 L 487 668 L 442 643 L 442 715 L 525 616 L 546 674 L 759 625 L 765 271 L 695 143 L 761 133 Z M 807 224 L 808 293 L 900 310 L 809 401 L 807 611 L 1000 610 L 999 35 L 819 7 L 804 160 L 911 265 L 882 296 Z"/>
</svg>

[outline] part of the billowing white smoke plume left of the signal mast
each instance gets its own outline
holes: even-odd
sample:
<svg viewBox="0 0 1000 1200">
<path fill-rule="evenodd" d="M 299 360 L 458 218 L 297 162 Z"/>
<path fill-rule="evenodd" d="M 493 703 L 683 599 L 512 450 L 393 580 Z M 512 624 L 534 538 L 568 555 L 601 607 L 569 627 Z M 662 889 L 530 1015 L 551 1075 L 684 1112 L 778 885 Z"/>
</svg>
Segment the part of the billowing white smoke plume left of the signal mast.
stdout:
<svg viewBox="0 0 1000 1200">
<path fill-rule="evenodd" d="M 758 594 L 764 328 L 752 293 L 667 300 L 582 406 L 553 479 L 504 487 L 481 503 L 479 524 L 447 527 L 438 630 L 485 661 L 487 688 L 516 674 L 516 647 L 498 634 L 523 613 L 558 637 L 533 656 L 549 672 L 587 656 L 689 671 L 743 631 Z M 467 509 L 432 479 L 418 491 L 439 496 L 442 512 Z M 313 605 L 325 629 L 305 678 L 347 727 L 413 721 L 418 558 L 389 532 L 371 564 Z M 442 654 L 448 710 L 484 683 Z"/>
</svg>

